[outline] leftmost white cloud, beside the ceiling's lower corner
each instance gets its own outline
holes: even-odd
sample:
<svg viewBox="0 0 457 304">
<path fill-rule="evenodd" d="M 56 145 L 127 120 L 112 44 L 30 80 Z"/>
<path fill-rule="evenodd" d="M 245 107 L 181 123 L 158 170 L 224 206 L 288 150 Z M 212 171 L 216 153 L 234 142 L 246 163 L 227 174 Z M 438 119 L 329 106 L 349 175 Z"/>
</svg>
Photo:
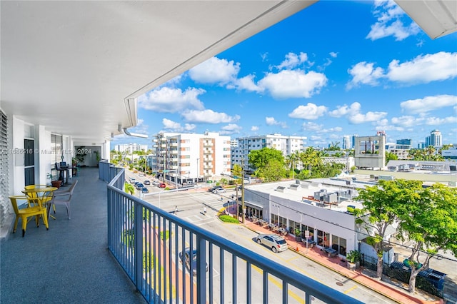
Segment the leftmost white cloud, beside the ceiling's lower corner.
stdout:
<svg viewBox="0 0 457 304">
<path fill-rule="evenodd" d="M 140 108 L 156 112 L 174 113 L 186 108 L 203 109 L 204 105 L 199 100 L 199 95 L 206 91 L 201 88 L 159 88 L 139 96 Z"/>
</svg>

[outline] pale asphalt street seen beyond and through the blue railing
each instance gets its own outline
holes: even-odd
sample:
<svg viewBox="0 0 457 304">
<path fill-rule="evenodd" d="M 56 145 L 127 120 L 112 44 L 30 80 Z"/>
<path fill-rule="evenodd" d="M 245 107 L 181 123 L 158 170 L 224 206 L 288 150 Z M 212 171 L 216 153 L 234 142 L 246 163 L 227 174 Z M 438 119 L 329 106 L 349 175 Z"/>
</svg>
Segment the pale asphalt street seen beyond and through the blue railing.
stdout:
<svg viewBox="0 0 457 304">
<path fill-rule="evenodd" d="M 145 179 L 138 177 L 133 173 L 130 174 L 130 176 L 134 176 L 137 180 L 141 181 Z M 286 250 L 283 253 L 273 253 L 269 248 L 266 248 L 263 245 L 258 245 L 254 241 L 254 238 L 257 234 L 253 231 L 240 225 L 226 224 L 219 221 L 219 219 L 216 218 L 216 213 L 221 208 L 223 208 L 224 204 L 226 204 L 227 200 L 231 198 L 231 195 L 234 193 L 234 191 L 227 191 L 226 193 L 216 195 L 213 193 L 208 193 L 204 190 L 197 192 L 181 191 L 172 193 L 152 185 L 148 186 L 148 188 L 149 194 L 144 197 L 145 201 L 149 201 L 156 206 L 160 206 L 160 208 L 169 212 L 174 212 L 175 206 L 177 205 L 179 212 L 176 213 L 176 215 L 184 218 L 184 220 L 189 221 L 190 223 L 194 223 L 196 226 L 201 226 L 206 230 L 211 230 L 213 233 L 221 235 L 222 237 L 238 243 L 239 245 L 242 245 L 249 250 L 266 256 L 271 260 L 275 260 L 277 263 L 286 265 L 288 268 L 296 270 L 299 273 L 303 273 L 303 275 L 306 275 L 313 280 L 336 289 L 341 293 L 345 293 L 353 298 L 361 300 L 364 303 L 395 303 L 383 295 L 380 295 L 375 291 L 364 287 L 363 285 L 349 280 L 348 278 L 339 275 L 338 273 L 335 273 L 332 270 L 329 270 L 328 268 L 313 262 L 312 260 L 308 260 L 307 258 L 298 255 L 297 253 L 293 252 L 293 250 Z M 159 192 L 161 193 L 160 198 L 158 194 Z M 222 201 L 220 200 L 221 196 L 223 196 Z M 207 210 L 206 216 L 203 212 L 205 206 Z M 186 239 L 186 243 L 189 244 L 188 239 Z M 182 248 L 178 248 L 176 251 L 180 252 L 181 250 Z M 219 268 L 219 250 L 214 250 L 214 262 L 214 294 L 219 295 L 219 276 L 221 275 Z M 246 269 L 246 263 L 238 260 L 237 267 L 238 269 L 243 269 L 242 273 L 244 273 L 244 269 Z M 232 282 L 232 269 L 232 258 L 226 254 L 224 255 L 225 282 Z M 261 270 L 254 269 L 252 271 L 252 278 L 253 282 L 256 282 L 257 278 L 260 280 Z M 244 289 L 244 286 L 246 286 L 245 279 L 246 278 L 243 278 L 243 275 L 237 276 L 238 303 L 242 303 L 243 298 L 246 295 L 246 290 Z M 271 303 L 281 303 L 281 281 L 272 276 L 270 276 L 268 280 L 268 289 L 271 293 L 271 298 L 269 300 L 273 301 Z M 226 303 L 231 303 L 231 293 L 231 288 L 226 288 L 224 292 Z M 259 286 L 259 288 L 254 287 L 252 294 L 261 295 L 261 286 Z M 301 291 L 294 292 L 293 289 L 291 289 L 288 295 L 289 303 L 303 303 L 301 300 L 303 298 Z M 277 302 L 274 301 L 275 299 Z M 217 298 L 214 300 L 215 303 L 218 303 Z"/>
</svg>

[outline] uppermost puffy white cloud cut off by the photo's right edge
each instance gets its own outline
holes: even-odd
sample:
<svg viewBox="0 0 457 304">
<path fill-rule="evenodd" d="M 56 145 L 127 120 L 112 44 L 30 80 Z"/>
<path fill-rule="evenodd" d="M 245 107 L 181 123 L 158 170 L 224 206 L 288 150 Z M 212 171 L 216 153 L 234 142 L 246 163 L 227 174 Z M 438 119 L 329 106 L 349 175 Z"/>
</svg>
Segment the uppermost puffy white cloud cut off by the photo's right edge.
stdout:
<svg viewBox="0 0 457 304">
<path fill-rule="evenodd" d="M 387 78 L 403 83 L 429 83 L 457 76 L 457 53 L 439 52 L 420 55 L 411 61 L 399 63 L 393 60 L 388 65 Z"/>
</svg>

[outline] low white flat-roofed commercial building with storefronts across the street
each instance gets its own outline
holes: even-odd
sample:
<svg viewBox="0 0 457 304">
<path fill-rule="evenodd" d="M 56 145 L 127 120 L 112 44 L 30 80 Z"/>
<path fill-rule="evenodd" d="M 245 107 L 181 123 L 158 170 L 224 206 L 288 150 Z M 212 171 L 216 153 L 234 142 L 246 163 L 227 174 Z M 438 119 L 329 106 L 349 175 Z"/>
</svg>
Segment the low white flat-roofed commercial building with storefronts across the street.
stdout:
<svg viewBox="0 0 457 304">
<path fill-rule="evenodd" d="M 333 248 L 343 257 L 358 249 L 358 240 L 366 237 L 351 213 L 351 208 L 362 208 L 353 199 L 357 189 L 376 184 L 357 179 L 319 178 L 247 186 L 246 215 L 277 223 L 295 235 L 298 229 L 301 238 L 309 235 L 319 248 Z"/>
</svg>

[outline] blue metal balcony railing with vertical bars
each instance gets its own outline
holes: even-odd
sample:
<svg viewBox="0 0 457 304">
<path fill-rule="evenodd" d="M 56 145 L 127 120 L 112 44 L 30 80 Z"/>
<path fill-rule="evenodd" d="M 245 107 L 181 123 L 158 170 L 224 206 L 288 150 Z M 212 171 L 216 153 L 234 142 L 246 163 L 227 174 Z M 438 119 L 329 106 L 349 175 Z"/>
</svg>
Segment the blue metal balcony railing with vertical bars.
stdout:
<svg viewBox="0 0 457 304">
<path fill-rule="evenodd" d="M 114 167 L 110 167 L 111 169 Z M 229 253 L 232 255 L 232 263 L 233 263 L 233 278 L 231 282 L 231 294 L 232 294 L 232 301 L 236 303 L 236 296 L 237 296 L 237 288 L 236 285 L 236 266 L 237 260 L 243 260 L 246 262 L 246 298 L 247 303 L 251 303 L 252 299 L 252 287 L 253 282 L 251 280 L 251 269 L 253 266 L 260 268 L 263 270 L 263 303 L 268 303 L 268 275 L 273 275 L 274 277 L 282 280 L 282 299 L 283 303 L 287 303 L 288 301 L 288 290 L 289 285 L 292 285 L 299 290 L 302 290 L 305 293 L 305 302 L 311 303 L 311 296 L 323 300 L 326 303 L 361 303 L 358 300 L 355 300 L 348 295 L 338 292 L 333 288 L 330 288 L 322 283 L 318 283 L 316 280 L 308 278 L 306 275 L 296 272 L 290 268 L 287 268 L 284 265 L 274 262 L 268 258 L 265 258 L 262 255 L 252 252 L 251 250 L 247 250 L 243 248 L 241 245 L 231 242 L 230 240 L 226 240 L 226 238 L 222 238 L 220 235 L 216 235 L 211 233 L 204 228 L 196 226 L 192 223 L 184 221 L 182 218 L 175 216 L 169 212 L 162 210 L 161 208 L 152 205 L 149 202 L 143 201 L 140 198 L 130 195 L 129 193 L 125 193 L 122 189 L 124 187 L 124 169 L 119 172 L 116 172 L 116 175 L 108 184 L 108 245 L 109 250 L 115 256 L 115 258 L 119 261 L 121 266 L 124 268 L 126 273 L 129 275 L 129 278 L 133 281 L 136 285 L 136 288 L 141 292 L 144 298 L 150 302 L 164 302 L 167 303 L 167 297 L 171 298 L 175 296 L 178 298 L 180 295 L 184 297 L 183 303 L 194 303 L 194 299 L 196 298 L 196 303 L 207 303 L 207 298 L 209 297 L 211 300 L 209 303 L 213 302 L 213 298 L 216 296 L 213 293 L 213 287 L 211 284 L 213 283 L 212 278 L 212 264 L 214 262 L 213 257 L 211 255 L 214 246 L 218 247 L 221 250 L 221 264 L 224 265 L 223 257 L 224 253 Z M 131 216 L 131 212 L 134 211 L 134 216 Z M 150 222 L 154 221 L 154 225 Z M 135 223 L 142 223 L 141 225 L 135 225 Z M 145 225 L 145 223 L 147 225 Z M 157 223 L 157 226 L 156 226 Z M 172 228 L 172 224 L 174 228 Z M 126 235 L 126 228 L 131 227 L 131 230 L 134 230 L 134 233 L 131 232 L 130 235 Z M 145 227 L 151 227 L 150 229 L 153 232 L 149 231 L 149 229 L 145 229 Z M 124 228 L 124 230 L 122 230 Z M 163 228 L 163 229 L 162 229 Z M 172 242 L 172 238 L 168 240 L 160 240 L 157 235 L 161 235 L 164 233 L 164 230 L 169 228 L 170 235 L 173 232 L 176 232 L 174 235 L 174 243 Z M 173 230 L 174 229 L 174 230 Z M 199 254 L 197 255 L 196 259 L 196 288 L 194 291 L 194 284 L 189 283 L 190 287 L 189 292 L 191 299 L 186 300 L 186 285 L 183 283 L 184 290 L 179 290 L 179 281 L 176 278 L 176 282 L 172 282 L 172 275 L 166 276 L 166 272 L 168 271 L 169 274 L 178 273 L 178 263 L 175 263 L 175 268 L 172 269 L 173 264 L 173 256 L 172 256 L 172 249 L 175 245 L 175 256 L 174 261 L 178 261 L 178 248 L 179 243 L 182 243 L 182 248 L 184 248 L 185 240 L 181 236 L 178 238 L 179 230 L 181 230 L 181 235 L 186 236 L 189 233 L 190 238 L 190 247 L 194 248 L 194 243 L 196 243 L 195 248 L 198 250 Z M 150 233 L 150 234 L 149 234 Z M 133 236 L 132 236 L 133 235 Z M 191 236 L 195 236 L 196 241 Z M 140 238 L 141 237 L 141 238 Z M 133 238 L 129 240 L 129 243 L 132 242 L 131 245 L 133 248 L 129 248 L 129 245 L 123 244 L 126 243 L 126 238 Z M 149 240 L 149 248 L 144 246 L 143 241 L 135 241 L 135 240 Z M 152 245 L 154 243 L 154 245 Z M 163 243 L 163 244 L 162 244 Z M 149 251 L 151 249 L 151 251 Z M 162 255 L 163 250 L 163 255 Z M 206 257 L 206 252 L 209 250 L 208 259 Z M 143 255 L 135 255 L 135 253 L 143 253 Z M 154 253 L 154 267 L 156 269 L 156 262 L 165 269 L 164 270 L 164 278 L 162 281 L 161 275 L 159 278 L 156 278 L 156 274 L 154 274 L 154 278 L 151 278 L 149 273 L 145 270 L 145 267 L 148 268 L 149 265 L 145 262 L 145 255 L 149 256 L 153 255 Z M 156 256 L 157 255 L 157 256 Z M 162 259 L 162 260 L 161 260 Z M 169 261 L 167 261 L 169 259 Z M 209 260 L 209 275 L 206 273 L 206 260 Z M 169 264 L 167 264 L 169 263 Z M 183 264 L 184 265 L 184 264 Z M 167 268 L 169 267 L 169 269 Z M 238 268 L 241 270 L 241 268 Z M 157 270 L 155 270 L 157 271 Z M 185 266 L 183 266 L 183 278 L 186 275 Z M 225 280 L 224 278 L 224 271 L 225 268 L 221 267 L 221 273 L 219 275 L 220 280 Z M 241 270 L 243 271 L 243 270 Z M 189 269 L 189 273 L 193 273 L 192 269 Z M 206 281 L 207 275 L 209 280 L 209 288 L 207 290 Z M 192 276 L 192 275 L 191 275 Z M 177 277 L 177 275 L 176 275 Z M 158 280 L 158 283 L 156 282 Z M 154 281 L 154 283 L 152 282 Z M 192 280 L 191 280 L 192 281 Z M 173 285 L 176 283 L 176 294 L 174 295 L 172 290 L 173 288 L 169 288 L 167 294 L 166 285 Z M 230 282 L 229 282 L 230 283 Z M 225 285 L 229 285 L 229 283 L 224 281 L 224 285 L 221 282 L 221 303 L 224 302 L 224 287 Z M 157 284 L 159 287 L 157 288 Z M 259 287 L 258 285 L 256 286 Z M 180 292 L 182 294 L 180 294 Z M 196 293 L 196 295 L 194 294 Z"/>
</svg>

